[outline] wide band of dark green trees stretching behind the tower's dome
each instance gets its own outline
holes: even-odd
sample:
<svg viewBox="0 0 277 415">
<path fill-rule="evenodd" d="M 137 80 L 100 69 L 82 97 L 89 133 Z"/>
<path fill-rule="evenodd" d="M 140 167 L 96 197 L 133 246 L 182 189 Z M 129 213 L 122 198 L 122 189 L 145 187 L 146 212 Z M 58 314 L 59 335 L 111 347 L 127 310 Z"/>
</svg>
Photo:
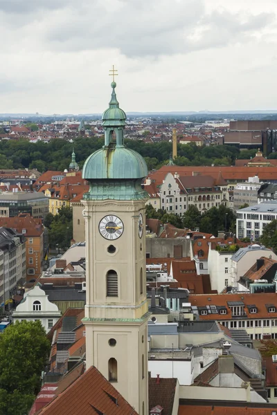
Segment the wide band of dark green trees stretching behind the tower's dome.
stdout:
<svg viewBox="0 0 277 415">
<path fill-rule="evenodd" d="M 69 167 L 74 147 L 76 161 L 80 168 L 86 158 L 104 144 L 103 138 L 75 138 L 73 142 L 53 139 L 50 142 L 29 142 L 28 140 L 2 140 L 0 142 L 0 169 L 64 170 Z M 159 169 L 169 162 L 171 142 L 145 143 L 142 140 L 125 140 L 128 148 L 138 151 L 148 169 Z M 197 147 L 195 144 L 178 145 L 176 165 L 232 165 L 236 158 L 255 156 L 256 150 L 240 151 L 228 145 Z M 274 157 L 274 156 L 273 156 Z"/>
</svg>

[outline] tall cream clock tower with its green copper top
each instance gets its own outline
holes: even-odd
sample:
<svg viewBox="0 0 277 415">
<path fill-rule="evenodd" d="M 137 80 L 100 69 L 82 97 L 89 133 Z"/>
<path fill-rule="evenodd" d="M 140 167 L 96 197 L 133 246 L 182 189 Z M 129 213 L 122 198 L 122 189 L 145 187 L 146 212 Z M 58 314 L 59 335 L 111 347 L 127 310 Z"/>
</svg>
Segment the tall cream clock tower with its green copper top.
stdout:
<svg viewBox="0 0 277 415">
<path fill-rule="evenodd" d="M 84 163 L 87 255 L 87 368 L 96 366 L 140 415 L 148 413 L 148 302 L 145 276 L 145 201 L 148 169 L 127 149 L 125 112 L 111 82 L 102 115 L 105 145 Z"/>
</svg>

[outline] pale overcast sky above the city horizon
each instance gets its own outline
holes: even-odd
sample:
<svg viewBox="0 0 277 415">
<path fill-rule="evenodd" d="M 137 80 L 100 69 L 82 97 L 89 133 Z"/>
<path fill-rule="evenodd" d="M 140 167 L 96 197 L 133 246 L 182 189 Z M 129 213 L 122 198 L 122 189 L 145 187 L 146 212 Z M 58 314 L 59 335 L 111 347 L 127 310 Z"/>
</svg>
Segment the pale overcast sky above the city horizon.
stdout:
<svg viewBox="0 0 277 415">
<path fill-rule="evenodd" d="M 0 0 L 0 113 L 277 109 L 276 0 Z"/>
</svg>

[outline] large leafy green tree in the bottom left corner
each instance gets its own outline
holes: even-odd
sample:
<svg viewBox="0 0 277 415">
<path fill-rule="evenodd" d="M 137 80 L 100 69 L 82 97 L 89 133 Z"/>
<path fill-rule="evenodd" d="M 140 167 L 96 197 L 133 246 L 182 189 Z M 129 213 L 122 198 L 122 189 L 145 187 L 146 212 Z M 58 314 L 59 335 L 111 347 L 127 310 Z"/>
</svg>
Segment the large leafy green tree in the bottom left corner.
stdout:
<svg viewBox="0 0 277 415">
<path fill-rule="evenodd" d="M 16 322 L 1 334 L 0 415 L 28 413 L 50 348 L 40 322 Z"/>
</svg>

